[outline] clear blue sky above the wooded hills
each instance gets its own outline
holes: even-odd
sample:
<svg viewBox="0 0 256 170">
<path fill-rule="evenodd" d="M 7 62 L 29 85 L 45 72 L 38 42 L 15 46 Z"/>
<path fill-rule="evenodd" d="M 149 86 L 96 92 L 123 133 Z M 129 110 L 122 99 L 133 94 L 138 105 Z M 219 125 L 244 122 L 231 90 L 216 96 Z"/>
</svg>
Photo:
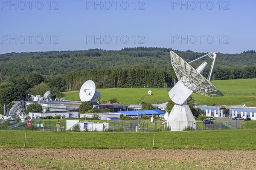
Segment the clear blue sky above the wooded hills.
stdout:
<svg viewBox="0 0 256 170">
<path fill-rule="evenodd" d="M 256 50 L 256 1 L 0 0 L 0 54 L 124 47 Z"/>
</svg>

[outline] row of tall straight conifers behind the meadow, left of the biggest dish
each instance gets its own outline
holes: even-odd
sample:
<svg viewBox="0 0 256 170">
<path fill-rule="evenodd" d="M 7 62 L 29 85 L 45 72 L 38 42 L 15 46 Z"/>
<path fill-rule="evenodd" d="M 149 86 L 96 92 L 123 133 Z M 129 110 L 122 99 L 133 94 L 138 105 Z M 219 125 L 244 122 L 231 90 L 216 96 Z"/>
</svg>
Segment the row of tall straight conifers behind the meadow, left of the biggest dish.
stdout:
<svg viewBox="0 0 256 170">
<path fill-rule="evenodd" d="M 66 90 L 79 90 L 88 79 L 95 82 L 96 88 L 134 88 L 141 85 L 167 88 L 173 86 L 175 73 L 171 69 L 131 67 L 78 71 L 64 77 Z"/>
</svg>

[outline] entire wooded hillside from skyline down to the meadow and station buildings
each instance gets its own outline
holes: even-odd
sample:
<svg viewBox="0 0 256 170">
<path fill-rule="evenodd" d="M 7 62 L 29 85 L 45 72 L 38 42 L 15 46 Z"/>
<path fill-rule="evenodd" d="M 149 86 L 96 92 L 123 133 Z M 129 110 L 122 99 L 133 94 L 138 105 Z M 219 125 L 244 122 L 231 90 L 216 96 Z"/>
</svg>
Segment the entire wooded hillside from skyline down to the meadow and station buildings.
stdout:
<svg viewBox="0 0 256 170">
<path fill-rule="evenodd" d="M 0 113 L 4 103 L 29 99 L 28 94 L 79 90 L 91 79 L 96 88 L 133 88 L 137 86 L 172 87 L 177 78 L 170 61 L 171 48 L 123 48 L 119 51 L 90 49 L 85 51 L 48 51 L 7 53 L 0 55 Z M 175 51 L 186 61 L 207 53 Z M 211 52 L 211 51 L 209 51 Z M 192 63 L 194 68 L 206 57 Z M 207 68 L 206 68 L 207 69 Z M 209 71 L 209 70 L 208 70 Z M 204 77 L 207 72 L 204 71 Z M 256 52 L 217 53 L 213 80 L 256 78 Z"/>
</svg>

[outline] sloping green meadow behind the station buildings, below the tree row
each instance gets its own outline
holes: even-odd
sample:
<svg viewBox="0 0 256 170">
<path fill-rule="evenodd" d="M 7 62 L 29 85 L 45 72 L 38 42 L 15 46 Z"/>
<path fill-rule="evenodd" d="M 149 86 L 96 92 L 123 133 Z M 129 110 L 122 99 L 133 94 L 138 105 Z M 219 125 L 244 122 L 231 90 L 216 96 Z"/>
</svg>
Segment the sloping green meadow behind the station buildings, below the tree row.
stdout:
<svg viewBox="0 0 256 170">
<path fill-rule="evenodd" d="M 224 96 L 207 97 L 193 93 L 198 105 L 244 105 L 256 106 L 256 79 L 235 79 L 211 81 Z M 152 91 L 151 96 L 148 90 Z M 164 103 L 170 100 L 170 89 L 155 88 L 115 88 L 97 89 L 101 93 L 101 100 L 117 98 L 120 103 L 139 104 L 140 102 Z M 79 100 L 79 91 L 64 92 L 66 100 Z"/>
</svg>

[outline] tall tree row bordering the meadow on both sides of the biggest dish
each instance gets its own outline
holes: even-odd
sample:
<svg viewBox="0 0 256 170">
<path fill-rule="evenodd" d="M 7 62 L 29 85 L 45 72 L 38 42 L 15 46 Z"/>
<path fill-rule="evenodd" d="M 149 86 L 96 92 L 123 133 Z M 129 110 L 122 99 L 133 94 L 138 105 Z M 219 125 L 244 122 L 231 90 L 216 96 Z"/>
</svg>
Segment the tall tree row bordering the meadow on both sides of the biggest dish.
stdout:
<svg viewBox="0 0 256 170">
<path fill-rule="evenodd" d="M 203 72 L 207 77 L 208 72 Z M 212 72 L 212 80 L 256 78 L 256 67 L 224 68 L 216 66 Z M 79 90 L 82 83 L 91 79 L 96 88 L 133 88 L 137 86 L 173 87 L 177 82 L 171 67 L 150 68 L 106 68 L 71 72 L 64 75 L 65 90 Z"/>
</svg>

